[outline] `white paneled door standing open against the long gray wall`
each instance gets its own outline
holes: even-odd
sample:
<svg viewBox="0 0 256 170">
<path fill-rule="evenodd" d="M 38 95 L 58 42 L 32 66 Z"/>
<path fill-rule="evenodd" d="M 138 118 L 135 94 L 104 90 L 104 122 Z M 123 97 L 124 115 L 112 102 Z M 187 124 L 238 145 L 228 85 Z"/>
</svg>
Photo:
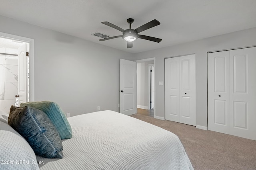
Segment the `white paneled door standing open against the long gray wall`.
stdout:
<svg viewBox="0 0 256 170">
<path fill-rule="evenodd" d="M 137 113 L 136 62 L 120 59 L 120 113 Z"/>
</svg>

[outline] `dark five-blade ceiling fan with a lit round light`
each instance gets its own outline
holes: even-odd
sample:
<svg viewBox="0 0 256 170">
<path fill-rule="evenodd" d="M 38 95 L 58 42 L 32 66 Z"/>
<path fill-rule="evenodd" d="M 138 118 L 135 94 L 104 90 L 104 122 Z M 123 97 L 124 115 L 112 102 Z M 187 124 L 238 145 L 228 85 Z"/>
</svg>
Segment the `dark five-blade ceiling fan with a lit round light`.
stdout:
<svg viewBox="0 0 256 170">
<path fill-rule="evenodd" d="M 142 31 L 145 31 L 146 29 L 150 29 L 152 27 L 155 27 L 156 25 L 160 25 L 160 22 L 158 20 L 152 20 L 136 29 L 131 29 L 131 24 L 133 23 L 133 19 L 132 18 L 128 18 L 127 19 L 127 22 L 130 24 L 130 28 L 129 29 L 122 29 L 112 23 L 109 23 L 107 21 L 105 22 L 102 22 L 103 24 L 105 25 L 108 25 L 114 29 L 117 29 L 119 31 L 121 31 L 123 33 L 123 35 L 118 35 L 118 36 L 114 36 L 114 37 L 108 37 L 108 38 L 104 38 L 104 39 L 99 39 L 100 41 L 105 41 L 105 40 L 109 40 L 109 39 L 113 39 L 113 38 L 118 38 L 118 37 L 123 37 L 123 39 L 125 41 L 127 41 L 127 48 L 132 48 L 132 41 L 135 41 L 136 39 L 138 38 L 141 38 L 141 39 L 146 39 L 146 40 L 149 40 L 149 41 L 154 41 L 154 42 L 157 42 L 159 43 L 160 41 L 162 41 L 162 39 L 160 38 L 155 38 L 155 37 L 150 37 L 150 36 L 147 36 L 147 35 L 140 35 L 138 33 L 142 32 Z"/>
</svg>

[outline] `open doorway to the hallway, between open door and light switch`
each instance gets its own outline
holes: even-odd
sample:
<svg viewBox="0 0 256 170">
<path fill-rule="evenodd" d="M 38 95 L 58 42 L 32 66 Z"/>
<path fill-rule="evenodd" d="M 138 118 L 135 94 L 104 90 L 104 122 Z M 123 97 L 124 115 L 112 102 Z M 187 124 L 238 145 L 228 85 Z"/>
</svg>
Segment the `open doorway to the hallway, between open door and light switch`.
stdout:
<svg viewBox="0 0 256 170">
<path fill-rule="evenodd" d="M 138 112 L 155 116 L 155 58 L 137 60 L 137 109 Z M 152 70 L 153 69 L 153 70 Z"/>
</svg>

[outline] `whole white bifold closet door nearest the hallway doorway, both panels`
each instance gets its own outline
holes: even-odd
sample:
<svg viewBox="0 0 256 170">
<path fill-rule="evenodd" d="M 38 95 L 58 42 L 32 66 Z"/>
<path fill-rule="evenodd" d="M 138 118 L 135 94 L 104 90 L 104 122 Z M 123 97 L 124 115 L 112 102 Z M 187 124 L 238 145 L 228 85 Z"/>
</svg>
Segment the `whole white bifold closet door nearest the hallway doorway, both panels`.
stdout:
<svg viewBox="0 0 256 170">
<path fill-rule="evenodd" d="M 165 59 L 165 119 L 196 125 L 195 55 Z"/>
</svg>

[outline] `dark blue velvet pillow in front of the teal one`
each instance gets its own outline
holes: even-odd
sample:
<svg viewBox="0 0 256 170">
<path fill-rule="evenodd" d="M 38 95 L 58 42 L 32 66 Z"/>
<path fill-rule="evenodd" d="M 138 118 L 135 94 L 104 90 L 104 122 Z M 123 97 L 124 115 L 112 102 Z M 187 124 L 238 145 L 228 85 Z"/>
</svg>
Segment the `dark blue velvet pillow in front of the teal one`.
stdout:
<svg viewBox="0 0 256 170">
<path fill-rule="evenodd" d="M 11 106 L 8 124 L 28 141 L 35 154 L 63 158 L 58 131 L 43 111 L 29 106 Z"/>
</svg>

